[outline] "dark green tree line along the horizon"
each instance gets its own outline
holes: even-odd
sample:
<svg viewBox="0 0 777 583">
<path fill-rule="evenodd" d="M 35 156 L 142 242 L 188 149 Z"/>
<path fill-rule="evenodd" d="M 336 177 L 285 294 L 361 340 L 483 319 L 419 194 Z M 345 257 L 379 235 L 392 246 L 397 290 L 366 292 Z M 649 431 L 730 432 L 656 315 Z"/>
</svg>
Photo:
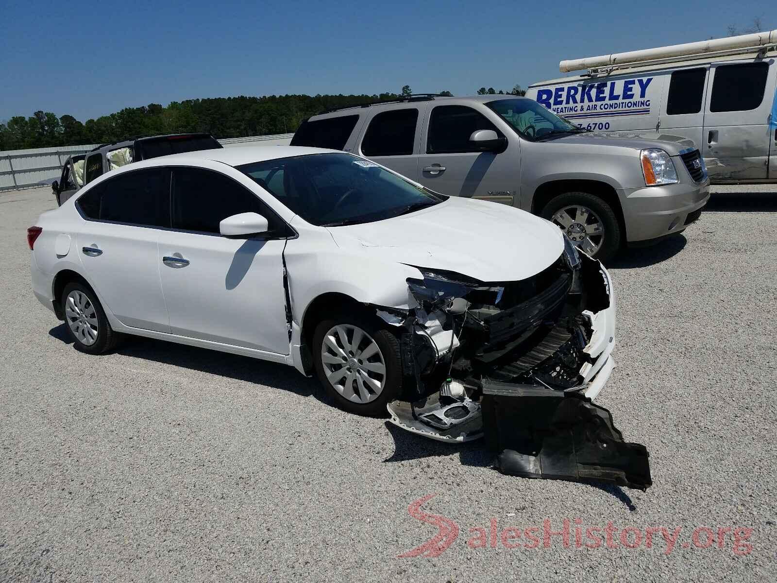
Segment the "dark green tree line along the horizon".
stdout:
<svg viewBox="0 0 777 583">
<path fill-rule="evenodd" d="M 516 88 L 520 89 L 520 86 Z M 286 134 L 295 131 L 303 120 L 315 113 L 334 107 L 390 101 L 410 94 L 409 86 L 403 86 L 400 94 L 187 99 L 173 101 L 168 106 L 149 103 L 127 107 L 85 123 L 71 115 L 57 117 L 50 111 L 36 111 L 30 117 L 15 116 L 0 124 L 0 150 L 105 144 L 134 136 L 192 131 L 204 131 L 217 139 Z M 452 94 L 443 91 L 441 95 Z"/>
</svg>

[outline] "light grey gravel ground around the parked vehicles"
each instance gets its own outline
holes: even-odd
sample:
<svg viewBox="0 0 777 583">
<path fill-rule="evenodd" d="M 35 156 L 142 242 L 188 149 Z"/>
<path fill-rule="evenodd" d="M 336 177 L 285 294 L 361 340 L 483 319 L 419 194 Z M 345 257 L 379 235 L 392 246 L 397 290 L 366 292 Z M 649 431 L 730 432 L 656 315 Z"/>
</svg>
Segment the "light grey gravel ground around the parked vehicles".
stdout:
<svg viewBox="0 0 777 583">
<path fill-rule="evenodd" d="M 650 451 L 646 493 L 502 476 L 478 445 L 345 414 L 281 365 L 141 339 L 78 353 L 30 291 L 24 231 L 51 191 L 0 194 L 0 581 L 774 581 L 777 189 L 717 190 L 685 236 L 611 266 L 598 403 Z M 458 539 L 398 557 L 437 532 L 408 512 L 429 494 Z M 570 542 L 492 546 L 491 518 L 540 539 L 569 518 Z M 577 548 L 576 518 L 612 522 L 614 548 Z M 674 548 L 658 531 L 647 548 L 662 526 Z"/>
</svg>

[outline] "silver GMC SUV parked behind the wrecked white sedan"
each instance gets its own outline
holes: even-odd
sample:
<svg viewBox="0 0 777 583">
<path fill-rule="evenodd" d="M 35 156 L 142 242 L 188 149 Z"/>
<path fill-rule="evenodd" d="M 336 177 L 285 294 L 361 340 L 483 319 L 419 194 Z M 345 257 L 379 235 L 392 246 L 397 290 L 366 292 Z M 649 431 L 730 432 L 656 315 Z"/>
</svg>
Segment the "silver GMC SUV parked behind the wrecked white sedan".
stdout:
<svg viewBox="0 0 777 583">
<path fill-rule="evenodd" d="M 305 120 L 291 145 L 354 152 L 430 190 L 531 211 L 602 260 L 683 231 L 709 199 L 692 141 L 595 134 L 524 97 L 352 106 Z"/>
</svg>

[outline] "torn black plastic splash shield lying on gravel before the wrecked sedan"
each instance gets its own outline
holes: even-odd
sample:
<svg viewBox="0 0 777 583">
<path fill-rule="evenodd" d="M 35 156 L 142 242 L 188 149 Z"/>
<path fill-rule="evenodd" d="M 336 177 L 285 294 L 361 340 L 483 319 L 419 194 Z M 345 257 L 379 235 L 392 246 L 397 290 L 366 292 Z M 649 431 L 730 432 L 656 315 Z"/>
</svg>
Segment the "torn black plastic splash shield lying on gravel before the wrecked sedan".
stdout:
<svg viewBox="0 0 777 583">
<path fill-rule="evenodd" d="M 520 386 L 486 381 L 483 387 L 483 430 L 486 445 L 497 453 L 497 470 L 518 477 L 604 480 L 638 490 L 653 484 L 647 449 L 624 442 L 607 409 L 579 393 L 505 394 L 511 387 Z M 500 394 L 489 394 L 490 388 Z"/>
</svg>

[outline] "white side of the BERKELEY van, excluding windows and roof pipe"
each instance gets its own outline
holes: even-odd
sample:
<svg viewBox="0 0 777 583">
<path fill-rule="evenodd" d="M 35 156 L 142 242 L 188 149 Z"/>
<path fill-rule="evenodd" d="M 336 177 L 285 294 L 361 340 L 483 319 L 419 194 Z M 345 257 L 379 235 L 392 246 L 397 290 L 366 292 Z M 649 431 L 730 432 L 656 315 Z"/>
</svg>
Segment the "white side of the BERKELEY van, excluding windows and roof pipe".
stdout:
<svg viewBox="0 0 777 583">
<path fill-rule="evenodd" d="M 716 91 L 719 68 L 747 63 L 768 66 L 761 102 L 747 110 L 723 111 L 713 106 L 716 94 L 720 103 L 721 94 L 741 93 L 747 86 L 719 83 Z M 659 137 L 668 134 L 689 138 L 702 153 L 713 183 L 777 182 L 777 127 L 769 125 L 770 114 L 777 109 L 777 52 L 772 49 L 765 55 L 725 55 L 715 61 L 699 58 L 660 67 L 651 70 L 643 65 L 620 74 L 615 70 L 611 75 L 542 82 L 531 86 L 526 96 L 593 131 L 653 131 Z M 675 86 L 672 74 L 702 70 L 703 89 L 695 85 L 701 91 L 697 94 L 698 110 L 667 111 Z M 680 82 L 676 85 L 675 96 L 689 90 Z"/>
</svg>

